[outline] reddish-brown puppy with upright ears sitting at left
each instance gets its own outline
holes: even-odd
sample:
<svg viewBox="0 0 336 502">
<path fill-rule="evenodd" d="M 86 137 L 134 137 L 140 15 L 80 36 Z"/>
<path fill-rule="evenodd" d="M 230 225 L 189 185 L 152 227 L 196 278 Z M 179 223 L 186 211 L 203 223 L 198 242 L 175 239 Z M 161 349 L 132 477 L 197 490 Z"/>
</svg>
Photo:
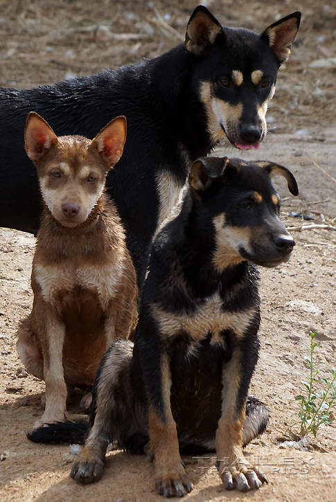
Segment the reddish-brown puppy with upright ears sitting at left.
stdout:
<svg viewBox="0 0 336 502">
<path fill-rule="evenodd" d="M 67 386 L 91 388 L 103 353 L 136 324 L 136 276 L 116 207 L 104 193 L 120 159 L 126 120 L 90 141 L 57 137 L 28 115 L 26 152 L 44 199 L 33 258 L 33 310 L 21 323 L 17 350 L 29 373 L 46 382 L 46 407 L 35 428 L 64 419 Z"/>
</svg>

